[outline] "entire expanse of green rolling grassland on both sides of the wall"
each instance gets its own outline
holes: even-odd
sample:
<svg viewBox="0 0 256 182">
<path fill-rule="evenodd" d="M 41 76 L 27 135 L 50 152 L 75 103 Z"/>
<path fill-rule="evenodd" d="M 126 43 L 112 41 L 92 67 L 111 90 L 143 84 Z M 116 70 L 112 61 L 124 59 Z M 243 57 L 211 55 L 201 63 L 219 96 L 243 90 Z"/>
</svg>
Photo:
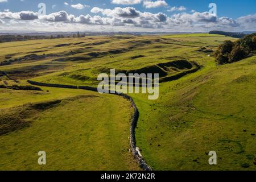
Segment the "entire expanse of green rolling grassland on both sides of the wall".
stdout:
<svg viewBox="0 0 256 182">
<path fill-rule="evenodd" d="M 158 100 L 130 94 L 146 162 L 156 170 L 255 170 L 256 56 L 218 66 L 213 52 L 224 40 L 236 39 L 124 35 L 1 43 L 0 71 L 8 77 L 2 74 L 0 85 L 29 85 L 29 79 L 96 87 L 98 74 L 111 68 L 159 73 Z M 129 152 L 129 101 L 42 89 L 0 89 L 1 170 L 139 169 Z M 46 166 L 37 163 L 39 150 L 48 154 Z M 208 163 L 209 151 L 217 152 L 216 166 Z"/>
</svg>

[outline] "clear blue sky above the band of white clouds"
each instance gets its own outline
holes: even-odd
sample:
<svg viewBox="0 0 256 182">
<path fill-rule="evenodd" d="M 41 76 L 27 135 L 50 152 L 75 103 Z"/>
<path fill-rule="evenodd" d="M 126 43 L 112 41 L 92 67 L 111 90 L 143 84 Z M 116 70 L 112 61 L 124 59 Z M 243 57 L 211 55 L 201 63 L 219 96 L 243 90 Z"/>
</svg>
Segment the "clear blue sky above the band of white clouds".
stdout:
<svg viewBox="0 0 256 182">
<path fill-rule="evenodd" d="M 152 8 L 146 9 L 142 4 L 138 5 L 115 5 L 110 2 L 110 0 L 24 0 L 23 2 L 20 0 L 8 0 L 8 2 L 0 3 L 0 10 L 9 9 L 10 11 L 37 11 L 38 4 L 40 2 L 46 3 L 47 6 L 47 14 L 53 13 L 60 10 L 65 10 L 69 14 L 80 15 L 80 14 L 89 14 L 90 9 L 94 6 L 101 7 L 104 9 L 113 9 L 116 6 L 126 7 L 132 6 L 135 7 L 139 11 L 149 11 L 151 13 L 163 12 L 167 15 L 172 15 L 175 12 L 168 12 L 166 7 Z M 86 7 L 82 10 L 73 9 L 70 6 L 65 6 L 64 2 L 68 2 L 69 5 L 76 5 L 77 3 L 81 3 L 82 5 L 89 5 L 90 7 Z M 167 0 L 166 1 L 169 6 L 179 7 L 184 6 L 187 8 L 187 12 L 191 10 L 196 10 L 199 12 L 208 11 L 208 5 L 211 2 L 216 3 L 217 5 L 217 14 L 218 16 L 228 16 L 229 18 L 236 19 L 240 16 L 244 16 L 247 14 L 255 14 L 256 9 L 256 1 L 255 0 Z M 54 9 L 52 6 L 56 5 Z"/>
</svg>

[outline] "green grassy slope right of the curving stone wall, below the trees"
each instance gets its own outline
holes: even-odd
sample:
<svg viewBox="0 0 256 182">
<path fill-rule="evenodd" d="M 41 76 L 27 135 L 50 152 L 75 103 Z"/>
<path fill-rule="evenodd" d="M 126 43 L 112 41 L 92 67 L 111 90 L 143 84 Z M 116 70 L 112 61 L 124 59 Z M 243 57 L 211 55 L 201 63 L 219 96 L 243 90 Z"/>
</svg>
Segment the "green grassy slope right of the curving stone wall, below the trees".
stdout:
<svg viewBox="0 0 256 182">
<path fill-rule="evenodd" d="M 138 145 L 154 169 L 255 169 L 255 58 L 164 83 L 155 102 L 133 96 Z"/>
</svg>

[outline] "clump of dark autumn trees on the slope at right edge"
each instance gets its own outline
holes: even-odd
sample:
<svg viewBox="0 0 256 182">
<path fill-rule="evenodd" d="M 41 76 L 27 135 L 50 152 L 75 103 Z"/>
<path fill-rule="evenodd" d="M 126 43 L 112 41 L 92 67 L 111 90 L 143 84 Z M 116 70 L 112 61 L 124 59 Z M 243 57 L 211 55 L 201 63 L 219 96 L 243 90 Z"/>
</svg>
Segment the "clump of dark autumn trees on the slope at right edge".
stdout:
<svg viewBox="0 0 256 182">
<path fill-rule="evenodd" d="M 227 64 L 240 61 L 253 55 L 254 51 L 256 51 L 256 33 L 246 35 L 236 42 L 225 40 L 215 52 L 216 62 Z"/>
</svg>

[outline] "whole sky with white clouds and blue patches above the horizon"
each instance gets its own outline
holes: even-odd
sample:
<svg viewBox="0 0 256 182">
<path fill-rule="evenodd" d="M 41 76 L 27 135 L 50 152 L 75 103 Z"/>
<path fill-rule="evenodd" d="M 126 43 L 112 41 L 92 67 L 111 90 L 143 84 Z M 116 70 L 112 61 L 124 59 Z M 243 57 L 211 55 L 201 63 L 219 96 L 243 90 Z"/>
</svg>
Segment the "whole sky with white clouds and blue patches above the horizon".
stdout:
<svg viewBox="0 0 256 182">
<path fill-rule="evenodd" d="M 0 0 L 0 32 L 256 31 L 255 7 L 255 0 Z"/>
</svg>

